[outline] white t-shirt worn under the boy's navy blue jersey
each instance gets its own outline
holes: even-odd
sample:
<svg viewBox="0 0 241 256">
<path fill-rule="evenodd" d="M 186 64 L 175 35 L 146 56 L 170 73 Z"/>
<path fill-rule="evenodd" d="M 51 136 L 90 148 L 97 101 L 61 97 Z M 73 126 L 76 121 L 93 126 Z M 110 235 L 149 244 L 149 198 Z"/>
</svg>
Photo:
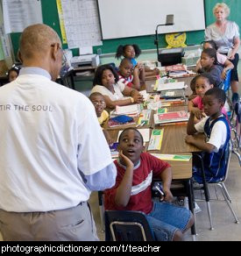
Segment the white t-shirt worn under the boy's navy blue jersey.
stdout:
<svg viewBox="0 0 241 256">
<path fill-rule="evenodd" d="M 222 117 L 221 115 L 220 117 Z M 197 132 L 204 132 L 204 125 L 209 117 L 202 118 L 202 121 L 195 124 L 195 130 Z M 210 121 L 210 124 L 213 122 Z M 223 121 L 217 121 L 216 124 L 214 124 L 212 132 L 210 134 L 210 139 L 207 139 L 207 143 L 215 146 L 215 152 L 218 152 L 219 148 L 222 148 L 225 144 L 225 141 L 227 139 L 227 128 L 226 124 L 223 123 Z"/>
</svg>

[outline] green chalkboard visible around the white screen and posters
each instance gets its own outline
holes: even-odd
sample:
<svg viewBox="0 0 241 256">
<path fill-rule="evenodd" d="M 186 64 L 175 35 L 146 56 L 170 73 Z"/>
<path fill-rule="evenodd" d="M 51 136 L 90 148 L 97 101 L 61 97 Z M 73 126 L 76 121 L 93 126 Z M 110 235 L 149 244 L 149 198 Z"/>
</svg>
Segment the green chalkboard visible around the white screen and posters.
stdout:
<svg viewBox="0 0 241 256">
<path fill-rule="evenodd" d="M 168 1 L 168 0 L 167 0 Z M 241 16 L 239 10 L 241 10 L 241 1 L 240 0 L 204 0 L 205 4 L 205 20 L 206 25 L 209 25 L 215 21 L 213 16 L 213 7 L 216 3 L 226 3 L 230 7 L 230 20 L 233 20 L 241 28 Z M 60 35 L 60 22 L 58 17 L 57 5 L 55 0 L 41 0 L 42 3 L 42 12 L 43 12 L 43 21 L 46 25 L 50 25 L 53 29 L 58 32 Z M 20 33 L 12 33 L 12 45 L 14 48 L 14 53 L 18 53 L 18 41 Z M 187 44 L 197 45 L 202 42 L 204 39 L 203 31 L 187 32 Z M 154 29 L 153 35 L 142 36 L 142 37 L 133 37 L 126 39 L 109 39 L 103 40 L 103 46 L 94 46 L 94 53 L 115 53 L 117 46 L 124 44 L 138 44 L 141 49 L 153 49 L 154 45 Z M 167 43 L 164 39 L 164 35 L 159 35 L 159 47 L 165 47 Z M 67 45 L 63 46 L 67 48 Z M 74 55 L 78 55 L 78 50 L 74 49 Z"/>
</svg>

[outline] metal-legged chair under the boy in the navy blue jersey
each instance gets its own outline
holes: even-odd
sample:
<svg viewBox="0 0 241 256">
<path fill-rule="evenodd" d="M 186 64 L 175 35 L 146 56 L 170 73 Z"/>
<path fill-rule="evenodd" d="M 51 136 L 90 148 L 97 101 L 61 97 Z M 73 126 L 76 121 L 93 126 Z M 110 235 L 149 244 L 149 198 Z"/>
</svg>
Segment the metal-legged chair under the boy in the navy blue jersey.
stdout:
<svg viewBox="0 0 241 256">
<path fill-rule="evenodd" d="M 204 167 L 203 167 L 203 161 L 202 161 L 202 155 L 199 153 L 196 153 L 194 155 L 194 158 L 196 160 L 199 160 L 201 166 L 202 166 L 202 189 L 204 190 L 204 196 L 205 196 L 205 201 L 207 203 L 207 210 L 208 210 L 208 215 L 209 215 L 209 224 L 210 224 L 210 230 L 213 231 L 214 227 L 213 227 L 213 222 L 212 222 L 212 214 L 211 214 L 211 209 L 210 209 L 210 196 L 209 196 L 209 187 L 214 186 L 214 187 L 219 187 L 224 201 L 227 203 L 228 207 L 230 208 L 230 211 L 235 219 L 235 223 L 239 224 L 239 221 L 237 219 L 237 215 L 234 212 L 232 206 L 231 206 L 231 198 L 230 198 L 230 194 L 224 184 L 224 182 L 226 181 L 228 174 L 229 174 L 229 167 L 230 167 L 230 155 L 231 155 L 231 143 L 229 142 L 229 146 L 227 146 L 227 150 L 225 152 L 225 160 L 226 160 L 226 169 L 225 169 L 225 174 L 224 177 L 221 181 L 213 181 L 213 182 L 207 182 L 205 179 L 205 173 L 204 173 Z M 216 194 L 217 195 L 217 194 Z M 218 199 L 217 199 L 218 200 Z"/>
</svg>

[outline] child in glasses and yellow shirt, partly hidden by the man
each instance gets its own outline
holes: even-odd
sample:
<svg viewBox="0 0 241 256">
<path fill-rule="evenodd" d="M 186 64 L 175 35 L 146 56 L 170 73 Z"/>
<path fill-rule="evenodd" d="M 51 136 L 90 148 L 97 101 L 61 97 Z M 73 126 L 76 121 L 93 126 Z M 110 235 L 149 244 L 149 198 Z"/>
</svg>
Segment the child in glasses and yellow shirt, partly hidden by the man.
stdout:
<svg viewBox="0 0 241 256">
<path fill-rule="evenodd" d="M 96 115 L 98 117 L 99 124 L 102 126 L 109 118 L 109 113 L 106 110 L 104 110 L 106 107 L 104 97 L 101 93 L 94 92 L 89 96 L 89 100 L 91 101 L 91 103 L 93 103 L 96 109 Z M 103 134 L 109 145 L 114 143 L 113 139 L 111 139 L 110 134 L 107 130 L 103 129 Z"/>
</svg>

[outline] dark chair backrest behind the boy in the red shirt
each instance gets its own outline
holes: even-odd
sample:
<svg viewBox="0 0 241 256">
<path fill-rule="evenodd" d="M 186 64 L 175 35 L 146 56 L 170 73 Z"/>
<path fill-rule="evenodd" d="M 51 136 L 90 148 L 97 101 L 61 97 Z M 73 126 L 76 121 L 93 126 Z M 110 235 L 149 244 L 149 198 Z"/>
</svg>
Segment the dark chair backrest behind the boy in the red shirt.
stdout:
<svg viewBox="0 0 241 256">
<path fill-rule="evenodd" d="M 133 210 L 105 211 L 106 241 L 154 241 L 145 214 Z"/>
</svg>

